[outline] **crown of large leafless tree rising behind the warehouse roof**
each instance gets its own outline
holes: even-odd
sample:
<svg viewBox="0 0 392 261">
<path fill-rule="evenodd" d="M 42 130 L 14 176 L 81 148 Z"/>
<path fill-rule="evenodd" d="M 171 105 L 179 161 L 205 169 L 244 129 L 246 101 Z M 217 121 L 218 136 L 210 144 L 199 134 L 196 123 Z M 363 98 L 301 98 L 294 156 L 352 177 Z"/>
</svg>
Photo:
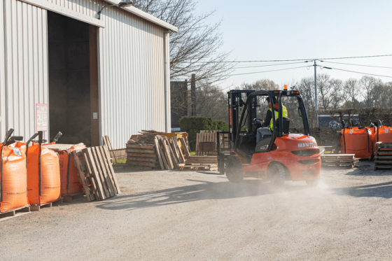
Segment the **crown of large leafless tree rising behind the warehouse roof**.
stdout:
<svg viewBox="0 0 392 261">
<path fill-rule="evenodd" d="M 196 5 L 196 0 L 134 1 L 137 8 L 179 28 L 170 33 L 170 78 L 189 79 L 195 73 L 202 88 L 228 78 L 235 64 L 225 63 L 229 53 L 218 50 L 223 45 L 221 22 L 207 22 L 215 10 L 197 15 Z"/>
</svg>

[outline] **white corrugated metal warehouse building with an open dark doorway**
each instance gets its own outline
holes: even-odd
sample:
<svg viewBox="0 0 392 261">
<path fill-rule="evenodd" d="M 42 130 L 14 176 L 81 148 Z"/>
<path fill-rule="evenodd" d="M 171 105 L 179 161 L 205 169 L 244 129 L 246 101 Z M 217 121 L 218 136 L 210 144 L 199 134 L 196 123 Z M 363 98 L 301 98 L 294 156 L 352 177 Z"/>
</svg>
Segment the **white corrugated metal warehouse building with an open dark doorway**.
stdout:
<svg viewBox="0 0 392 261">
<path fill-rule="evenodd" d="M 98 146 L 109 135 L 119 149 L 141 129 L 170 132 L 177 28 L 134 7 L 104 8 L 97 19 L 117 3 L 0 1 L 1 139 L 6 129 L 27 140 L 46 127 L 44 139 L 62 132 L 61 143 Z"/>
</svg>

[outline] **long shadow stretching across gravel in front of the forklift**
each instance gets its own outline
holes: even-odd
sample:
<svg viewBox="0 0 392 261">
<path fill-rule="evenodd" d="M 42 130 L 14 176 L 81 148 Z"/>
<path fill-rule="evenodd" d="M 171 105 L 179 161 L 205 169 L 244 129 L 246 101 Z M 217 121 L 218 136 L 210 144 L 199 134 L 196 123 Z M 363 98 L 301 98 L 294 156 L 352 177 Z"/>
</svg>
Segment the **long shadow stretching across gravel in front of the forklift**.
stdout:
<svg viewBox="0 0 392 261">
<path fill-rule="evenodd" d="M 270 183 L 260 180 L 244 180 L 241 183 L 195 181 L 195 185 L 178 188 L 145 192 L 138 195 L 123 195 L 113 198 L 97 207 L 107 210 L 141 209 L 153 206 L 165 206 L 195 202 L 206 199 L 232 199 L 240 197 L 254 197 L 309 188 L 307 185 L 285 186 L 273 188 Z"/>
</svg>

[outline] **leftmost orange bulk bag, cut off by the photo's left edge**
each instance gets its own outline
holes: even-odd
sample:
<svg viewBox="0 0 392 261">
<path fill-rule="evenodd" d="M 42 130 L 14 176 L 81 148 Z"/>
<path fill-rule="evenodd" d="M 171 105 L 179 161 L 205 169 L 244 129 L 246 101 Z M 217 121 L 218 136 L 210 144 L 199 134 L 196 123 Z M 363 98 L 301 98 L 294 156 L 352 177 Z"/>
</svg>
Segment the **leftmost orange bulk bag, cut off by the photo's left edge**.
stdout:
<svg viewBox="0 0 392 261">
<path fill-rule="evenodd" d="M 0 143 L 0 149 L 3 143 Z M 4 146 L 0 171 L 0 212 L 29 206 L 27 200 L 26 143 Z"/>
</svg>

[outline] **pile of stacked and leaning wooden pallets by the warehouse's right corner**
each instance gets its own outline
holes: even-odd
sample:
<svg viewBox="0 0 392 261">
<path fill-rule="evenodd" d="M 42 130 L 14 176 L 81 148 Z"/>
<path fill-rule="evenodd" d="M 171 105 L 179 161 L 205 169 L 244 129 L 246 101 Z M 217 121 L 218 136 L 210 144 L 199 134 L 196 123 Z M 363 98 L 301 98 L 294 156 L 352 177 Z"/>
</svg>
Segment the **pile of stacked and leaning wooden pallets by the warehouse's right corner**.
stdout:
<svg viewBox="0 0 392 261">
<path fill-rule="evenodd" d="M 136 170 L 179 169 L 189 154 L 188 144 L 182 137 L 168 138 L 162 132 L 144 131 L 127 143 L 127 164 Z M 184 148 L 184 153 L 179 143 Z"/>
</svg>

